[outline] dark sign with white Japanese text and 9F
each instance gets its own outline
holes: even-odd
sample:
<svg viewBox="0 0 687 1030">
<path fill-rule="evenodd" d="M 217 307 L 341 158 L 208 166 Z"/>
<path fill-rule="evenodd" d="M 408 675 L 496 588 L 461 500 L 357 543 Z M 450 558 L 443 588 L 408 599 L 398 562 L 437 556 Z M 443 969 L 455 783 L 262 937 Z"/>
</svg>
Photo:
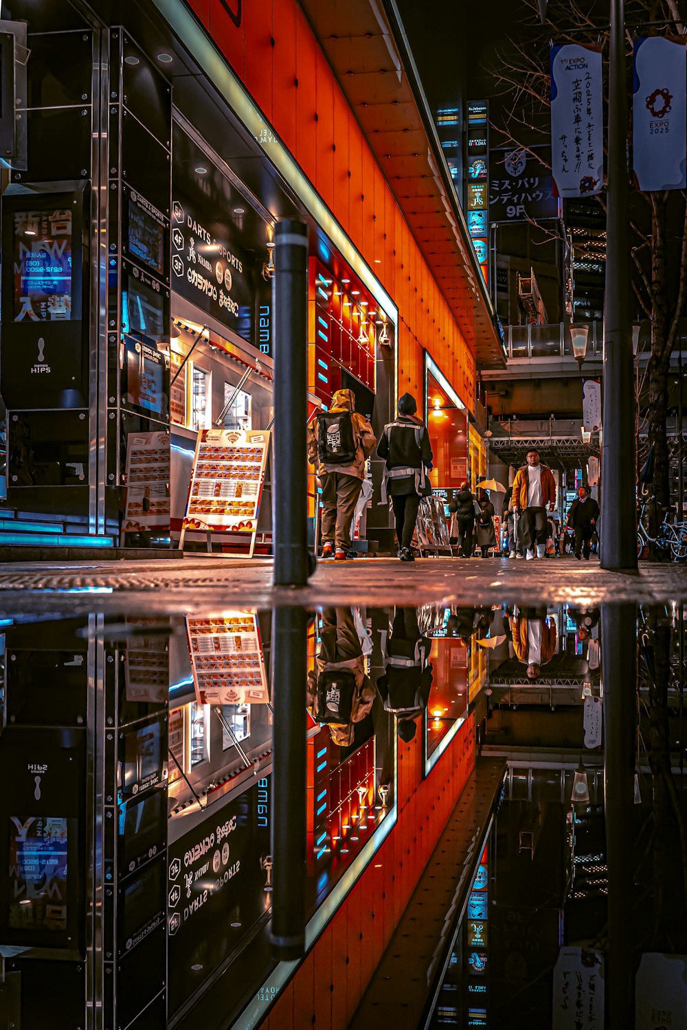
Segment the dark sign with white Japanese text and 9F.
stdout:
<svg viewBox="0 0 687 1030">
<path fill-rule="evenodd" d="M 549 147 L 491 150 L 489 157 L 489 220 L 539 221 L 558 218 L 561 202 L 553 196 L 547 164 Z"/>
</svg>

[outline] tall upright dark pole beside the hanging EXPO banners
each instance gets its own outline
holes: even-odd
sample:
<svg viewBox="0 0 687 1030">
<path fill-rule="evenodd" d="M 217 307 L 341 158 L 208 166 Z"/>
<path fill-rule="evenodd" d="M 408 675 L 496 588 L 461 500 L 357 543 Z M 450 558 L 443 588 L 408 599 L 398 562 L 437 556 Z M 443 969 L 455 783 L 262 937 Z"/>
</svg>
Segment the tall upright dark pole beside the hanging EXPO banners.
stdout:
<svg viewBox="0 0 687 1030">
<path fill-rule="evenodd" d="M 611 0 L 602 450 L 603 569 L 637 569 L 624 31 L 623 0 Z"/>
</svg>

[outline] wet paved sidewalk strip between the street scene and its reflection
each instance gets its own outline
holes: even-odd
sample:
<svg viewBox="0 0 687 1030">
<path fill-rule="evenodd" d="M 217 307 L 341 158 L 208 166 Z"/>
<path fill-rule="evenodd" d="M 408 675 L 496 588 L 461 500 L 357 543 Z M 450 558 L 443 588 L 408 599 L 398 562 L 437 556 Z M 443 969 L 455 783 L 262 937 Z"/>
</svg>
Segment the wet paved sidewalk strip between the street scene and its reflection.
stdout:
<svg viewBox="0 0 687 1030">
<path fill-rule="evenodd" d="M 502 602 L 597 606 L 638 600 L 687 602 L 687 566 L 643 563 L 639 573 L 604 572 L 574 558 L 392 558 L 320 561 L 304 589 L 272 587 L 266 558 L 190 555 L 182 561 L 5 564 L 0 571 L 2 611 L 122 611 L 164 614 L 221 611 L 274 604 L 370 606 Z"/>
</svg>

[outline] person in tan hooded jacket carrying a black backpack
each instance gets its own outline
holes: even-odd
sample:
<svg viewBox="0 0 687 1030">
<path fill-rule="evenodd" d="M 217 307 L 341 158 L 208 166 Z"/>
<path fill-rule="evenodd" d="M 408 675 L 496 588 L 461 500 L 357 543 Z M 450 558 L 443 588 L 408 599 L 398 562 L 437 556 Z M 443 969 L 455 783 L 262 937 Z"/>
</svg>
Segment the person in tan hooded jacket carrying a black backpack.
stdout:
<svg viewBox="0 0 687 1030">
<path fill-rule="evenodd" d="M 351 389 L 340 389 L 329 411 L 308 425 L 308 461 L 322 484 L 322 557 L 345 561 L 355 505 L 365 479 L 365 462 L 377 438 L 355 408 Z"/>
</svg>

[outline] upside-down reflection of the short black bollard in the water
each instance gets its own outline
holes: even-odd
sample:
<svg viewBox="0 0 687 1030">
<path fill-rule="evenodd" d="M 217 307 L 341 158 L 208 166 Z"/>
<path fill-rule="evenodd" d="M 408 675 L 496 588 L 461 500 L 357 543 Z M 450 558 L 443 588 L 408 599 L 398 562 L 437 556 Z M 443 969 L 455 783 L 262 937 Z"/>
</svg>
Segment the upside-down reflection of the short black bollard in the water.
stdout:
<svg viewBox="0 0 687 1030">
<path fill-rule="evenodd" d="M 272 856 L 270 940 L 278 959 L 305 952 L 307 615 L 273 611 Z"/>
</svg>

